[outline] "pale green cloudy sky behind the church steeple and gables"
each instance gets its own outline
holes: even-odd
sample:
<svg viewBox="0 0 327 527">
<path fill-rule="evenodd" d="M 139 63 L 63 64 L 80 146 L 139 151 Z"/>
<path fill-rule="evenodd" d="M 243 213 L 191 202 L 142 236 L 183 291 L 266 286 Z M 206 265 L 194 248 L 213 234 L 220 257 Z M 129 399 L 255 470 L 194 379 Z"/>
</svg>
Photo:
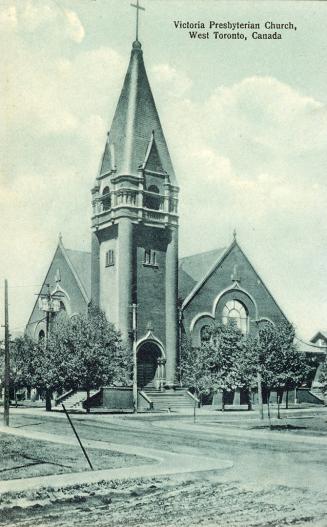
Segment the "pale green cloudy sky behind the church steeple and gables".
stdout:
<svg viewBox="0 0 327 527">
<path fill-rule="evenodd" d="M 225 247 L 236 228 L 311 338 L 327 327 L 324 2 L 141 3 L 145 65 L 181 187 L 180 255 Z M 246 41 L 193 40 L 178 20 L 297 29 L 281 40 L 248 30 Z M 0 322 L 7 278 L 13 334 L 58 234 L 67 248 L 90 249 L 90 189 L 134 38 L 130 0 L 0 0 Z"/>
</svg>

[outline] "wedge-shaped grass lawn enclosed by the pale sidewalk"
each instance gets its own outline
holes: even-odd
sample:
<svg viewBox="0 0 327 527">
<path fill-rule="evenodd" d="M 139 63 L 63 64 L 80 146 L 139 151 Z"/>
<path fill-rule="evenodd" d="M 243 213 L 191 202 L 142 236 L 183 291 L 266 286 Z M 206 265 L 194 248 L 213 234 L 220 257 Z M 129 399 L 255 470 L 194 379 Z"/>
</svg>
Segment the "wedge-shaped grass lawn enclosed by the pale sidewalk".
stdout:
<svg viewBox="0 0 327 527">
<path fill-rule="evenodd" d="M 87 449 L 95 470 L 151 463 L 151 460 L 110 450 Z M 79 446 L 0 434 L 0 479 L 17 479 L 88 470 Z"/>
</svg>

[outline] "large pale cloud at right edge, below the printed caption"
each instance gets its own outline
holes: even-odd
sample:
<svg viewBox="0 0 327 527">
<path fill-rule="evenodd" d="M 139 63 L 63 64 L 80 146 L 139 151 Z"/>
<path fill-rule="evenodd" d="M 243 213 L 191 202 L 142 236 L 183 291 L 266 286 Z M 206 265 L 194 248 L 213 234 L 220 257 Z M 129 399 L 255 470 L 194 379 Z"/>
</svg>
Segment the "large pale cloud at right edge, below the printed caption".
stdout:
<svg viewBox="0 0 327 527">
<path fill-rule="evenodd" d="M 259 151 L 289 156 L 327 145 L 325 133 L 319 132 L 327 129 L 326 107 L 272 77 L 254 76 L 218 87 L 206 106 L 215 137 L 228 123 L 227 138 L 247 141 Z"/>
</svg>

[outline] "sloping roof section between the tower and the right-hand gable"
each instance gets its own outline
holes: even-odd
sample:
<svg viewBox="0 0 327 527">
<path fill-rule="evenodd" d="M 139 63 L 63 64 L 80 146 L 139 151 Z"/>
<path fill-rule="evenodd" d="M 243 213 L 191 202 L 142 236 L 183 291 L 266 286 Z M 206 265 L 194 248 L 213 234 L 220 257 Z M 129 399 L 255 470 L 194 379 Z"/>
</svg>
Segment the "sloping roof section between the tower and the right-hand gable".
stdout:
<svg viewBox="0 0 327 527">
<path fill-rule="evenodd" d="M 178 292 L 183 300 L 224 253 L 225 248 L 184 256 L 178 263 Z"/>
</svg>

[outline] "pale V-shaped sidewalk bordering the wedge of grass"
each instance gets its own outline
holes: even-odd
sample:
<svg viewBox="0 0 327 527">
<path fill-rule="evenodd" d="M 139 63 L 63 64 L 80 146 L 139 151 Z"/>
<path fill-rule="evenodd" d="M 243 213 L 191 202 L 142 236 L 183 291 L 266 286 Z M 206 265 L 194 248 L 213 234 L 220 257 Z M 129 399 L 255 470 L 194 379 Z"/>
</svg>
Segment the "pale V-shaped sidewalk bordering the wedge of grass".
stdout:
<svg viewBox="0 0 327 527">
<path fill-rule="evenodd" d="M 42 432 L 22 430 L 21 428 L 0 427 L 0 433 L 27 437 L 38 441 L 50 441 L 65 445 L 76 445 L 76 439 L 50 435 Z M 99 481 L 113 481 L 119 479 L 135 479 L 142 477 L 154 477 L 207 470 L 226 470 L 233 466 L 231 461 L 209 458 L 204 456 L 192 456 L 175 454 L 163 450 L 136 447 L 132 445 L 118 445 L 105 443 L 103 441 L 84 441 L 86 448 L 99 448 L 111 450 L 123 454 L 133 454 L 157 461 L 152 465 L 138 465 L 135 467 L 87 471 L 79 473 L 60 474 L 53 476 L 40 476 L 0 482 L 0 495 L 6 492 L 21 492 L 40 488 L 61 488 L 72 485 L 83 485 Z"/>
</svg>

